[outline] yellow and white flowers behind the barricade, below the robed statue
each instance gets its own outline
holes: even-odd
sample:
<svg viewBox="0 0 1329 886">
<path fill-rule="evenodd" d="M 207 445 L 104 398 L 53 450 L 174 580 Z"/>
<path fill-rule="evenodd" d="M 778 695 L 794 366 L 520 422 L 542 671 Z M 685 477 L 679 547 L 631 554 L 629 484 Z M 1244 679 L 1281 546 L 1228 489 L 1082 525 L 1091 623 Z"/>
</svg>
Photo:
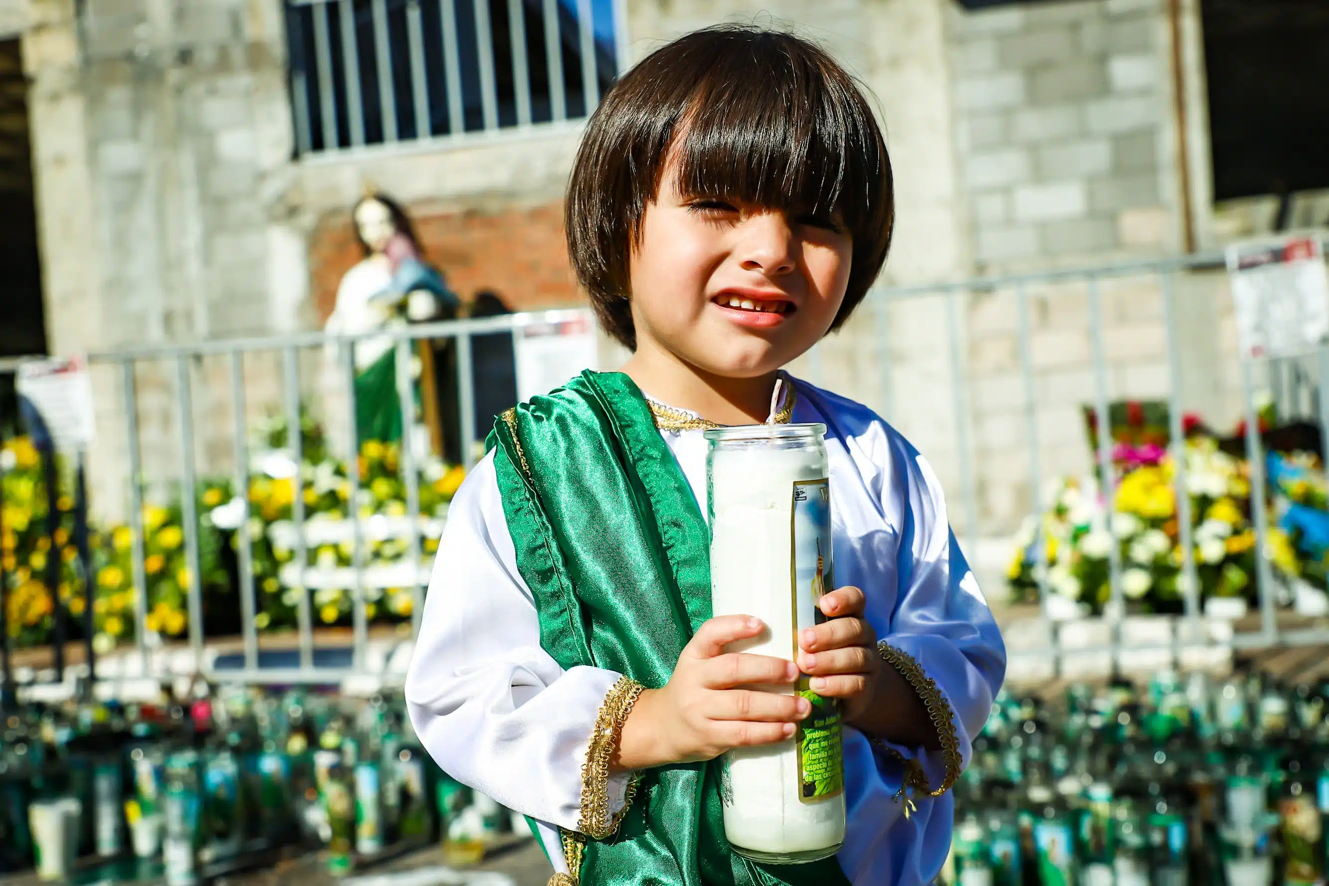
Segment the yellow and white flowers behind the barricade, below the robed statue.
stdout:
<svg viewBox="0 0 1329 886">
<path fill-rule="evenodd" d="M 226 551 L 239 547 L 239 533 L 251 541 L 253 573 L 256 596 L 255 624 L 259 630 L 294 626 L 302 588 L 283 580 L 282 569 L 295 557 L 291 531 L 295 515 L 295 477 L 302 480 L 302 499 L 307 537 L 318 527 L 342 523 L 339 541 L 307 546 L 310 570 L 346 569 L 355 559 L 354 533 L 346 531 L 352 513 L 371 530 L 363 539 L 363 562 L 368 567 L 407 562 L 408 539 L 405 476 L 395 444 L 367 441 L 356 460 L 359 497 L 352 506 L 347 465 L 328 457 L 322 429 L 302 416 L 303 464 L 295 465 L 279 446 L 286 442 L 286 429 L 272 422 L 259 433 L 262 452 L 251 465 L 245 490 L 250 519 L 241 525 L 245 513 L 230 481 L 205 480 L 194 490 L 198 525 L 199 576 L 203 602 L 203 627 L 209 634 L 237 630 L 235 602 L 238 575 L 235 558 Z M 267 449 L 267 446 L 278 446 Z M 70 639 L 81 636 L 82 618 L 90 584 L 94 647 L 109 651 L 132 640 L 136 626 L 136 587 L 133 566 L 133 529 L 129 526 L 90 527 L 92 569 L 85 580 L 73 545 L 73 502 L 61 493 L 57 507 L 61 525 L 52 539 L 47 527 L 47 491 L 41 458 L 31 441 L 19 437 L 0 449 L 4 477 L 4 510 L 0 514 L 0 555 L 4 558 L 7 587 L 7 626 L 15 647 L 35 646 L 49 640 L 54 604 L 48 587 L 48 563 L 60 559 L 60 599 L 70 615 Z M 420 550 L 431 555 L 437 549 L 437 530 L 447 514 L 447 503 L 465 476 L 460 466 L 448 468 L 437 460 L 419 466 Z M 239 506 L 237 506 L 239 505 Z M 384 521 L 387 521 L 384 523 Z M 391 531 L 383 531 L 387 525 Z M 185 546 L 183 511 L 179 501 L 148 503 L 142 511 L 144 573 L 148 590 L 145 627 L 150 639 L 179 638 L 189 630 L 187 594 L 194 578 Z M 350 582 L 347 583 L 350 584 Z M 352 594 L 348 587 L 308 587 L 316 624 L 348 623 Z M 375 622 L 403 622 L 411 618 L 413 595 L 409 587 L 365 587 L 365 612 Z"/>
</svg>

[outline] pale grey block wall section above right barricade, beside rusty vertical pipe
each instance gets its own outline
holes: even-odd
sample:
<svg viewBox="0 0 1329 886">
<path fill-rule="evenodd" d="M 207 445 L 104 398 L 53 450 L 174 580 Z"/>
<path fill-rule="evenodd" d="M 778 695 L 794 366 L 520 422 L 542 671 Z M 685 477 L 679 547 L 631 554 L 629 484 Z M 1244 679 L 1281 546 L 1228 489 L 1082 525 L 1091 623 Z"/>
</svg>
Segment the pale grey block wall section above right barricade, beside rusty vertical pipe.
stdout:
<svg viewBox="0 0 1329 886">
<path fill-rule="evenodd" d="M 1162 0 L 952 7 L 979 268 L 1177 248 Z"/>
</svg>

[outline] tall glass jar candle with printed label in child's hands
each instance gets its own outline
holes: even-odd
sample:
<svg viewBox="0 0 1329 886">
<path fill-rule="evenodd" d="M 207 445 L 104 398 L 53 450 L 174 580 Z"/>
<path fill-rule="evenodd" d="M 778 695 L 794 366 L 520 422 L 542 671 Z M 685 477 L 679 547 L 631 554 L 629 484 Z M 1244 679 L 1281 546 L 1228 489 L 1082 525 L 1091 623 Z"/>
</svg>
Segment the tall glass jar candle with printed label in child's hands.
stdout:
<svg viewBox="0 0 1329 886">
<path fill-rule="evenodd" d="M 799 632 L 825 620 L 817 608 L 833 588 L 825 430 L 813 424 L 706 432 L 712 611 L 766 623 L 731 652 L 792 660 Z M 755 861 L 825 858 L 844 842 L 840 707 L 812 692 L 807 676 L 766 691 L 797 692 L 812 713 L 787 741 L 724 754 L 726 836 Z"/>
</svg>

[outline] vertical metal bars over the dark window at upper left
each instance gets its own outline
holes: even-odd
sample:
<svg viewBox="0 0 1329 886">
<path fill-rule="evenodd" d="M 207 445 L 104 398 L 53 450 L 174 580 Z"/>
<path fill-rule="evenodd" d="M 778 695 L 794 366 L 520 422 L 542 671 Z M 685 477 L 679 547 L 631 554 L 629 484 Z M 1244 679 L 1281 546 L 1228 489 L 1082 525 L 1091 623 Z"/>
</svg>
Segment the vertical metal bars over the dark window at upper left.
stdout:
<svg viewBox="0 0 1329 886">
<path fill-rule="evenodd" d="M 557 124 L 570 117 L 569 93 L 582 97 L 575 116 L 589 116 L 601 78 L 626 65 L 621 0 L 607 4 L 609 23 L 595 21 L 593 0 L 286 1 L 299 154 Z M 532 23 L 542 41 L 532 40 Z M 431 70 L 439 49 L 441 84 Z"/>
</svg>

